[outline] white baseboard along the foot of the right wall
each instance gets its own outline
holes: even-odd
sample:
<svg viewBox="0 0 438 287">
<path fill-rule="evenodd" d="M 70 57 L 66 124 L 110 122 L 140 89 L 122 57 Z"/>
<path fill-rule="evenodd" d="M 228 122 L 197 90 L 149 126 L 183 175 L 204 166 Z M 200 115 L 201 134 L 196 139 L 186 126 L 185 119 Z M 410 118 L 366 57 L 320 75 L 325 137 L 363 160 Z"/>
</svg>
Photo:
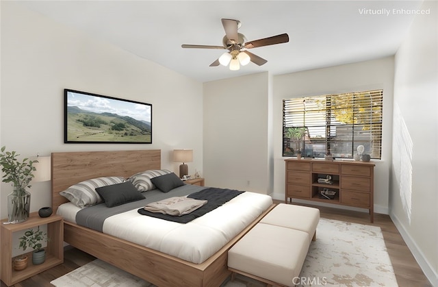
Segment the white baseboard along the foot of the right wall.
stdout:
<svg viewBox="0 0 438 287">
<path fill-rule="evenodd" d="M 407 247 L 411 251 L 415 260 L 417 260 L 418 265 L 420 265 L 420 268 L 422 269 L 424 275 L 426 275 L 430 284 L 432 284 L 432 286 L 438 287 L 438 273 L 433 270 L 428 260 L 426 260 L 423 252 L 420 250 L 420 248 L 418 248 L 417 244 L 415 243 L 415 240 L 411 238 L 411 236 L 406 231 L 401 221 L 398 220 L 398 217 L 395 214 L 390 213 L 389 217 L 391 217 L 392 222 L 394 222 L 394 225 L 396 225 L 398 232 L 400 232 L 400 235 L 402 236 L 404 242 L 406 242 Z"/>
</svg>

